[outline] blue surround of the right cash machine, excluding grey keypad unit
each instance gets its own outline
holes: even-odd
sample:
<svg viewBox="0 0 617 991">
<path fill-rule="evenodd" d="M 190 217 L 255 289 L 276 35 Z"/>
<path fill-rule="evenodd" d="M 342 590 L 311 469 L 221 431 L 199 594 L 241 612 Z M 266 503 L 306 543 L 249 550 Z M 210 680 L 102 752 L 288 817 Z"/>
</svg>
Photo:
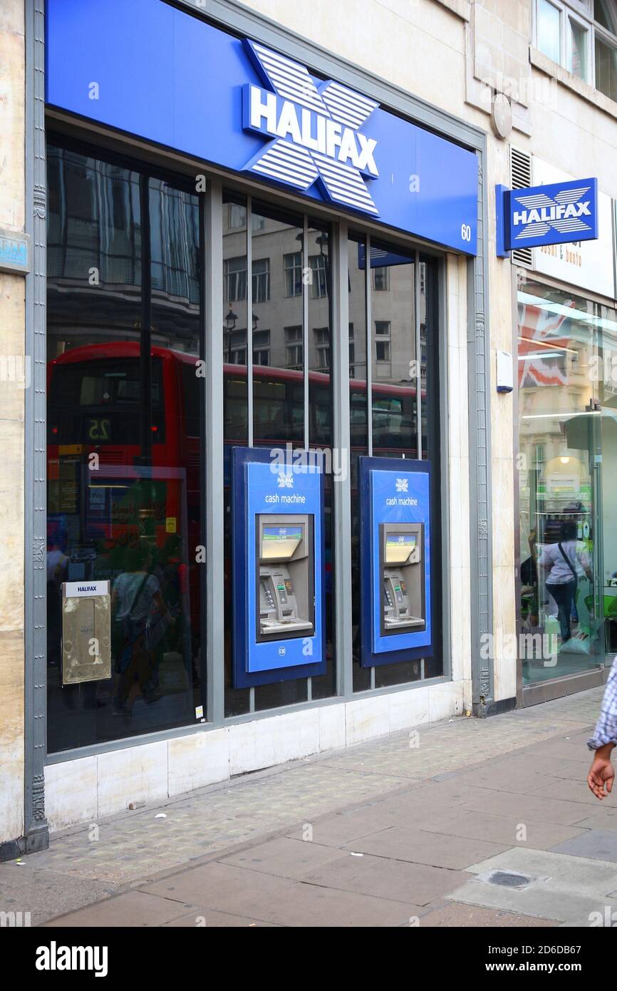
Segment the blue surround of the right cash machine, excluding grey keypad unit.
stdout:
<svg viewBox="0 0 617 991">
<path fill-rule="evenodd" d="M 360 458 L 361 664 L 373 667 L 433 656 L 431 597 L 431 466 L 427 461 Z M 383 634 L 381 625 L 382 523 L 419 523 L 423 532 L 426 624 L 424 629 Z"/>
</svg>

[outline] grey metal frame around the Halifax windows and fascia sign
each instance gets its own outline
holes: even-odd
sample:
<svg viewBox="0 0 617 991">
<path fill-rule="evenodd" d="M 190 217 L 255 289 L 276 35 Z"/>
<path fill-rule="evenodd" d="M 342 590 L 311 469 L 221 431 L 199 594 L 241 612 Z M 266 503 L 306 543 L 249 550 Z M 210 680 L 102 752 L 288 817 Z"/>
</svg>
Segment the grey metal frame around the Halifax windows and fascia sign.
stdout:
<svg viewBox="0 0 617 991">
<path fill-rule="evenodd" d="M 203 4 L 198 0 L 175 0 L 175 5 L 196 16 L 204 16 Z M 27 298 L 33 319 L 29 320 L 28 347 L 29 353 L 35 358 L 40 354 L 40 368 L 35 372 L 39 378 L 35 382 L 40 385 L 32 389 L 30 404 L 27 412 L 26 433 L 30 438 L 27 449 L 27 478 L 33 483 L 27 486 L 27 519 L 33 520 L 29 532 L 26 551 L 26 590 L 27 590 L 27 724 L 26 724 L 26 794 L 27 805 L 30 809 L 36 805 L 43 812 L 43 775 L 45 764 L 45 716 L 46 716 L 46 567 L 45 567 L 45 518 L 46 518 L 46 393 L 45 393 L 45 334 L 46 334 L 46 236 L 45 236 L 45 105 L 44 105 L 44 0 L 26 0 L 27 6 L 27 40 L 34 53 L 30 61 L 29 88 L 27 105 L 30 108 L 29 135 L 35 142 L 36 155 L 30 156 L 31 165 L 28 179 L 28 191 L 31 201 L 35 202 L 34 211 L 30 211 L 31 231 L 33 234 L 33 273 L 27 279 Z M 470 455 L 470 511 L 471 532 L 477 534 L 477 546 L 471 555 L 471 620 L 472 620 L 472 657 L 479 657 L 479 638 L 482 633 L 492 629 L 492 588 L 491 588 L 491 545 L 490 545 L 490 416 L 489 416 L 489 352 L 488 324 L 486 314 L 488 241 L 487 201 L 484 165 L 486 162 L 486 138 L 482 131 L 453 117 L 447 112 L 426 101 L 413 97 L 405 90 L 394 86 L 377 76 L 360 69 L 348 61 L 329 54 L 306 39 L 288 31 L 271 20 L 249 10 L 235 0 L 209 0 L 206 14 L 209 20 L 235 33 L 249 35 L 264 44 L 274 48 L 282 48 L 288 55 L 298 58 L 314 68 L 315 71 L 329 77 L 336 77 L 353 88 L 360 89 L 393 110 L 413 119 L 421 126 L 428 127 L 443 134 L 451 140 L 463 144 L 475 151 L 479 165 L 478 183 L 478 254 L 468 261 L 470 293 L 468 297 L 468 389 L 469 389 L 469 455 Z M 32 76 L 32 77 L 31 77 Z M 35 85 L 36 79 L 36 85 Z M 209 561 L 207 581 L 207 629 L 206 629 L 206 669 L 207 669 L 207 718 L 203 725 L 184 726 L 172 730 L 148 733 L 139 737 L 117 740 L 105 744 L 94 744 L 79 750 L 65 751 L 48 757 L 48 763 L 57 763 L 77 756 L 83 757 L 89 753 L 99 753 L 127 746 L 138 746 L 156 739 L 167 739 L 173 736 L 187 735 L 195 731 L 209 731 L 223 724 L 244 722 L 259 717 L 272 716 L 276 711 L 248 713 L 244 716 L 224 718 L 224 671 L 221 658 L 224 656 L 223 617 L 214 602 L 214 589 L 221 587 L 223 579 L 223 481 L 218 466 L 223 459 L 223 300 L 222 293 L 212 291 L 213 287 L 223 281 L 222 254 L 222 179 L 215 173 L 209 181 L 209 191 L 206 196 L 206 250 L 203 258 L 203 277 L 206 284 L 205 313 L 205 361 L 208 382 L 205 420 L 206 420 L 206 543 Z M 318 210 L 315 210 L 318 213 Z M 251 234 L 248 218 L 248 237 Z M 366 230 L 376 230 L 375 225 L 366 225 Z M 383 236 L 387 231 L 383 231 Z M 381 235 L 380 235 L 381 236 Z M 397 232 L 393 236 L 402 238 Z M 368 234 L 367 234 L 368 238 Z M 306 236 L 305 236 L 306 242 Z M 408 238 L 404 238 L 407 243 Z M 306 244 L 305 259 L 307 258 Z M 349 311 L 347 286 L 347 221 L 344 218 L 333 224 L 332 245 L 333 272 L 335 277 L 332 285 L 333 295 L 333 377 L 335 403 L 335 446 L 349 447 Z M 249 265 L 249 262 L 248 262 Z M 445 266 L 441 263 L 440 277 L 440 332 L 445 341 L 446 330 L 446 292 Z M 368 283 L 369 267 L 366 267 Z M 248 269 L 248 280 L 252 286 L 252 271 Z M 249 293 L 248 293 L 249 295 Z M 369 290 L 367 284 L 367 297 Z M 248 300 L 250 302 L 250 300 Z M 370 312 L 367 312 L 366 343 L 371 347 Z M 248 319 L 248 361 L 252 362 L 252 310 L 249 309 Z M 308 326 L 305 321 L 305 333 Z M 37 349 L 34 345 L 37 343 Z M 305 349 L 306 349 L 305 341 Z M 305 350 L 305 354 L 306 354 Z M 446 349 L 442 348 L 442 369 L 447 368 Z M 446 376 L 441 376 L 440 417 L 444 443 L 442 445 L 443 479 L 448 479 L 448 386 Z M 351 604 L 348 602 L 347 589 L 344 582 L 346 569 L 351 564 L 351 546 L 346 534 L 350 527 L 350 491 L 351 483 L 337 482 L 334 486 L 337 523 L 334 540 L 335 553 L 338 563 L 335 578 L 337 602 L 337 657 L 345 659 L 338 664 L 337 691 L 339 695 L 319 700 L 319 702 L 299 703 L 285 707 L 284 712 L 300 711 L 315 705 L 326 706 L 358 698 L 352 692 L 351 670 Z M 444 603 L 449 602 L 448 588 L 448 487 L 443 487 L 443 552 L 445 555 Z M 36 522 L 35 522 L 36 521 Z M 475 607 L 477 606 L 477 608 Z M 481 606 L 481 607 L 480 607 Z M 446 610 L 447 612 L 447 610 Z M 431 679 L 431 684 L 445 682 L 450 679 L 448 660 L 450 657 L 450 621 L 444 613 L 444 675 Z M 486 707 L 492 698 L 492 669 L 486 679 L 479 671 L 478 662 L 473 667 L 473 701 L 477 711 Z M 410 688 L 420 688 L 426 682 L 405 683 L 382 689 L 369 690 L 363 695 L 391 694 L 397 691 L 407 691 Z M 374 685 L 374 682 L 373 682 Z M 43 813 L 44 816 L 44 813 Z M 45 820 L 39 820 L 45 829 Z M 31 824 L 32 826 L 32 824 Z M 31 828 L 32 831 L 32 828 Z"/>
</svg>

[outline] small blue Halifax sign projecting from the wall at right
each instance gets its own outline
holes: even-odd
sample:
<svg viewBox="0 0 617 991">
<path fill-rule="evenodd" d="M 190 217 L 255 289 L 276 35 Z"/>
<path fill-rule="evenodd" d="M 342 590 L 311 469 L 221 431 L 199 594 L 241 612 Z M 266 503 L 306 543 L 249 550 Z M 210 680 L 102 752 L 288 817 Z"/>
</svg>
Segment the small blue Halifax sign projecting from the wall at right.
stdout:
<svg viewBox="0 0 617 991">
<path fill-rule="evenodd" d="M 597 179 L 507 189 L 503 197 L 504 251 L 598 237 Z"/>
</svg>

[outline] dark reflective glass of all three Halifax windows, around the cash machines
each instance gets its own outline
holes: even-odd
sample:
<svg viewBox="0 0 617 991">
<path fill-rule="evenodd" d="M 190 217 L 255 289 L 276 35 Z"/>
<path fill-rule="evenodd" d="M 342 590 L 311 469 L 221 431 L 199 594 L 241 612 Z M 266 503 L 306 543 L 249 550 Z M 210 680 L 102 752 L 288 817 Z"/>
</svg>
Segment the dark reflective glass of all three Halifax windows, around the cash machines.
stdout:
<svg viewBox="0 0 617 991">
<path fill-rule="evenodd" d="M 58 752 L 194 723 L 206 712 L 206 226 L 194 185 L 87 146 L 51 141 L 48 182 L 48 749 Z M 348 462 L 334 447 L 332 241 L 329 223 L 224 190 L 216 291 L 227 717 L 336 694 L 335 495 L 348 467 L 354 691 L 443 673 L 441 623 L 430 661 L 366 669 L 359 631 L 360 455 L 431 460 L 441 540 L 437 262 L 350 235 Z M 251 445 L 326 456 L 327 670 L 237 689 L 230 453 Z M 432 575 L 438 603 L 437 566 Z M 110 666 L 105 677 L 68 684 L 65 583 L 80 582 L 109 583 Z M 80 619 L 82 636 L 87 621 Z"/>
</svg>

